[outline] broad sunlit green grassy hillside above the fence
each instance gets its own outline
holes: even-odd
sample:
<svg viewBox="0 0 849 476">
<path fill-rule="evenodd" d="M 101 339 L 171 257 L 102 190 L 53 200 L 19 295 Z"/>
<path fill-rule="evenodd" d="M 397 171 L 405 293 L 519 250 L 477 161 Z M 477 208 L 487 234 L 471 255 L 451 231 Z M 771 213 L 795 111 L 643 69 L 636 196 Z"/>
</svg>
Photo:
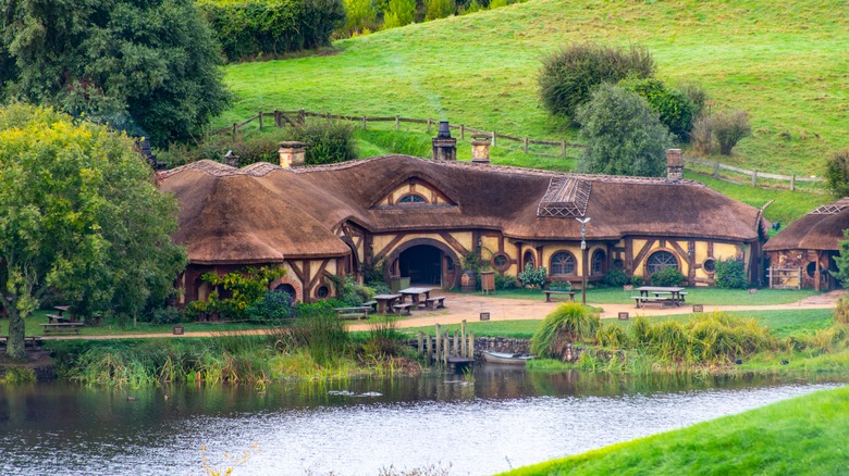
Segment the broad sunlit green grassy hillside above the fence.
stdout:
<svg viewBox="0 0 849 476">
<path fill-rule="evenodd" d="M 765 0 L 532 0 L 336 41 L 337 54 L 231 64 L 225 82 L 236 100 L 214 126 L 304 108 L 570 139 L 575 130 L 558 130 L 540 105 L 540 58 L 570 41 L 640 43 L 662 79 L 701 83 L 713 110 L 750 112 L 753 137 L 724 162 L 822 176 L 825 158 L 849 147 L 845 12 L 842 0 L 780 8 Z M 514 160 L 493 153 L 495 162 Z"/>
</svg>

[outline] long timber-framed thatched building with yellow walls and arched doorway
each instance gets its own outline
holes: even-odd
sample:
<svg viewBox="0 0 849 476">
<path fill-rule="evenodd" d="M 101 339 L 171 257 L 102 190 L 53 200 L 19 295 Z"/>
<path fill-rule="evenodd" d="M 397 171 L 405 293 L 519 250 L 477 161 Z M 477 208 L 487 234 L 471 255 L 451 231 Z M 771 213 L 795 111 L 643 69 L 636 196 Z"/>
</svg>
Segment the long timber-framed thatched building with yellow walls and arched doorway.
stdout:
<svg viewBox="0 0 849 476">
<path fill-rule="evenodd" d="M 755 279 L 760 211 L 682 179 L 670 158 L 669 176 L 638 178 L 406 155 L 290 167 L 298 160 L 282 150 L 284 167 L 201 161 L 159 180 L 181 203 L 186 301 L 208 295 L 205 272 L 269 263 L 287 272 L 272 288 L 306 301 L 335 293 L 329 276 L 359 278 L 381 261 L 387 275 L 452 288 L 469 255 L 500 274 L 531 263 L 570 281 L 675 266 L 690 286 L 713 283 L 714 260 L 738 258 Z"/>
</svg>

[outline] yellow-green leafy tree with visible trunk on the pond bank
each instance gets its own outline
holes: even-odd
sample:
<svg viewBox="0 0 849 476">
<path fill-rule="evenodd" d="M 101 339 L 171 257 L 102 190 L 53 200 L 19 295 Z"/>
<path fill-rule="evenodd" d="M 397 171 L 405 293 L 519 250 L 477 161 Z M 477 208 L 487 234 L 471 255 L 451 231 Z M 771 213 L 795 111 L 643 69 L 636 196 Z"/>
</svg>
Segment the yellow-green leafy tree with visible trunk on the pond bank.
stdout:
<svg viewBox="0 0 849 476">
<path fill-rule="evenodd" d="M 77 314 L 137 313 L 173 291 L 185 251 L 176 201 L 160 193 L 125 136 L 50 109 L 0 109 L 0 305 L 7 352 L 24 356 L 24 317 L 48 293 Z"/>
</svg>

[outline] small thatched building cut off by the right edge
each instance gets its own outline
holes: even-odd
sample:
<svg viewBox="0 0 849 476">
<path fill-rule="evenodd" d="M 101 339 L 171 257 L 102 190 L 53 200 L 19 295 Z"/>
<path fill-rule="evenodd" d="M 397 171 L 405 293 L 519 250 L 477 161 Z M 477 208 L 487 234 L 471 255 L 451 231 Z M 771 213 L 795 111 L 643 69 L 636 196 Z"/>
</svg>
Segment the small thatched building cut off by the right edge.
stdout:
<svg viewBox="0 0 849 476">
<path fill-rule="evenodd" d="M 764 245 L 770 287 L 834 289 L 844 230 L 849 228 L 849 198 L 822 205 L 797 220 Z"/>
</svg>

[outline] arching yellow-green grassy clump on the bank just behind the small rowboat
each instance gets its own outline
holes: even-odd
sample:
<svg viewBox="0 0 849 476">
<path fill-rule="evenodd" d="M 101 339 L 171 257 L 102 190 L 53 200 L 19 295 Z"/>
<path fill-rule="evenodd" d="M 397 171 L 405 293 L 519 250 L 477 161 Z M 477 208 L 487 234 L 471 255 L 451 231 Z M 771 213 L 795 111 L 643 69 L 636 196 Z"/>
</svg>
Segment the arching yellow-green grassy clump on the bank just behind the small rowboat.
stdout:
<svg viewBox="0 0 849 476">
<path fill-rule="evenodd" d="M 569 343 L 593 340 L 601 326 L 599 314 L 592 308 L 566 302 L 545 316 L 531 338 L 530 349 L 537 355 L 558 359 Z"/>
</svg>

